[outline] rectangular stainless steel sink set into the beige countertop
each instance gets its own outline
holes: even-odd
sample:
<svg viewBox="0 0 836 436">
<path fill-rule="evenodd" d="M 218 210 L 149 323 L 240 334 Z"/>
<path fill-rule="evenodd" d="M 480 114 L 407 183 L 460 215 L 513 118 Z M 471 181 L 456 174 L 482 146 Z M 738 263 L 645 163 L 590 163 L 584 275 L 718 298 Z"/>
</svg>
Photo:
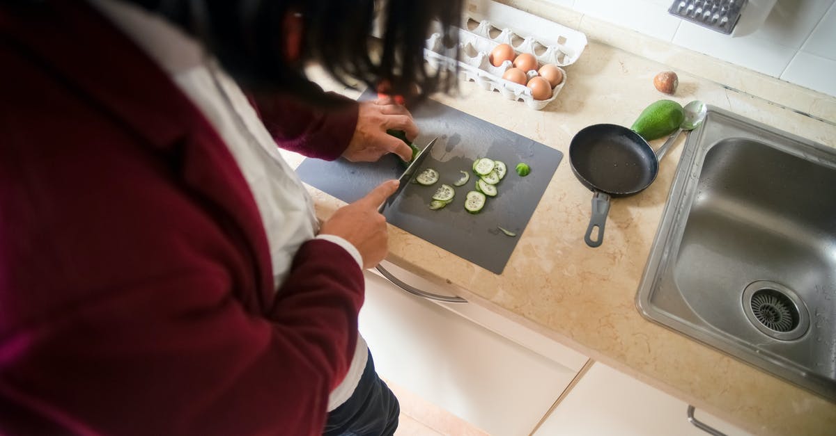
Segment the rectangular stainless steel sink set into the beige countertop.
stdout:
<svg viewBox="0 0 836 436">
<path fill-rule="evenodd" d="M 836 149 L 709 107 L 636 304 L 836 401 Z"/>
</svg>

